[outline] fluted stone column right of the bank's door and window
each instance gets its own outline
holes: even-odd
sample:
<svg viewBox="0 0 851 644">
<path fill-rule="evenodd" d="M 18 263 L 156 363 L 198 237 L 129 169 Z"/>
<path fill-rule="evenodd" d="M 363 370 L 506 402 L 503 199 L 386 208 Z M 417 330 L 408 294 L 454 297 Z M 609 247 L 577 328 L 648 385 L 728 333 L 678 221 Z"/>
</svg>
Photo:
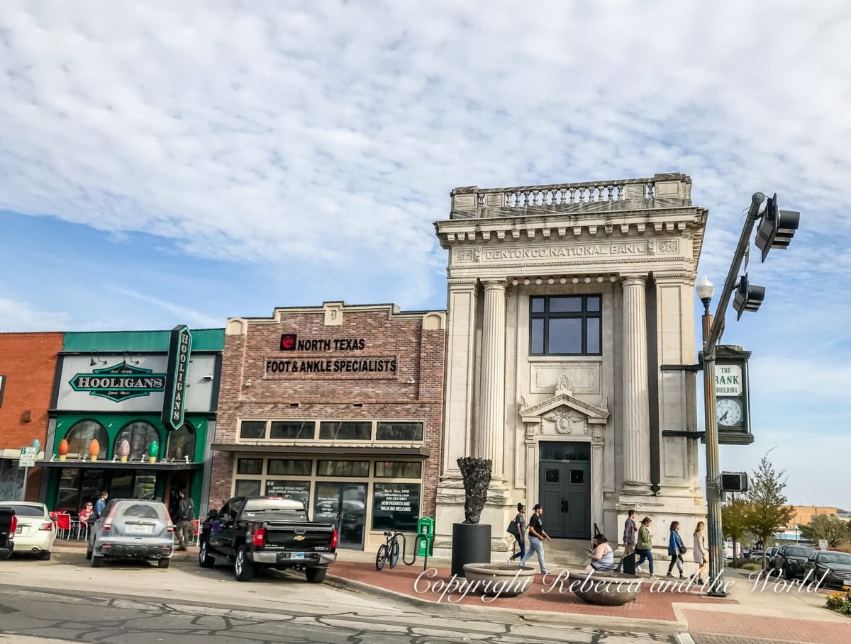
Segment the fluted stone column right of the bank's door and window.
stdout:
<svg viewBox="0 0 851 644">
<path fill-rule="evenodd" d="M 651 494 L 645 276 L 621 278 L 624 288 L 624 493 Z"/>
</svg>

